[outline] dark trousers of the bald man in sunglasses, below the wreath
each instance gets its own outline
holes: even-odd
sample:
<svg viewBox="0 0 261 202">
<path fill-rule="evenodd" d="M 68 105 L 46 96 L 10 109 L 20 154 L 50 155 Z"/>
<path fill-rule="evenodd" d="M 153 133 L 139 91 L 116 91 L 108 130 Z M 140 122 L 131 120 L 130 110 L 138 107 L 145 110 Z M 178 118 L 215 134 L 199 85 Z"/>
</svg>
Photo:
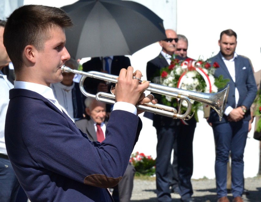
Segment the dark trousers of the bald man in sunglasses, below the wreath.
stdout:
<svg viewBox="0 0 261 202">
<path fill-rule="evenodd" d="M 191 176 L 193 173 L 193 138 L 196 127 L 195 119 L 189 125 L 179 124 L 171 127 L 157 127 L 156 186 L 158 201 L 171 201 L 171 173 L 169 163 L 173 142 L 177 141 L 177 161 L 180 196 L 182 200 L 191 198 L 193 194 Z M 175 150 L 175 148 L 174 148 Z"/>
</svg>

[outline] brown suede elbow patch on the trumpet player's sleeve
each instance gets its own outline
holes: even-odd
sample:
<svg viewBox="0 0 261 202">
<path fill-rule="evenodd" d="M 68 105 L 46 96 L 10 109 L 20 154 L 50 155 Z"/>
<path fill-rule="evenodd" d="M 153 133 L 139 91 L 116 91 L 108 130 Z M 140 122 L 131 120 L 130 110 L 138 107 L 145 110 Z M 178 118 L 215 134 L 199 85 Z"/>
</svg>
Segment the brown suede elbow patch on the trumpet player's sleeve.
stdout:
<svg viewBox="0 0 261 202">
<path fill-rule="evenodd" d="M 110 188 L 116 186 L 122 177 L 112 178 L 102 174 L 92 174 L 84 178 L 85 185 L 96 186 L 100 188 Z"/>
</svg>

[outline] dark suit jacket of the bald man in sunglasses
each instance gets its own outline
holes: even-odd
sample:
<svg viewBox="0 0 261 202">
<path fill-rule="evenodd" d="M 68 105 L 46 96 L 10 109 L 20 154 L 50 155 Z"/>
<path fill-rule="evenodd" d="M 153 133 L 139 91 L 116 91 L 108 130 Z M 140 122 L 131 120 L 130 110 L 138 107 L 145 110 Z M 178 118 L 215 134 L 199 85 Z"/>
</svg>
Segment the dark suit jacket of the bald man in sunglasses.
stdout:
<svg viewBox="0 0 261 202">
<path fill-rule="evenodd" d="M 176 56 L 179 60 L 184 60 L 185 58 Z M 153 79 L 155 77 L 160 76 L 160 70 L 163 67 L 167 67 L 168 62 L 166 61 L 165 57 L 160 53 L 157 57 L 155 57 L 153 60 L 147 62 L 146 67 L 146 74 L 147 74 L 147 80 L 153 82 Z M 162 104 L 161 101 L 161 95 L 159 94 L 153 94 L 155 98 L 157 98 L 158 103 Z M 153 126 L 154 127 L 162 127 L 162 126 L 177 126 L 180 125 L 181 122 L 178 119 L 172 119 L 171 117 L 167 116 L 161 116 L 157 114 L 153 114 L 150 112 L 144 112 L 144 116 L 149 119 L 153 119 Z"/>
</svg>

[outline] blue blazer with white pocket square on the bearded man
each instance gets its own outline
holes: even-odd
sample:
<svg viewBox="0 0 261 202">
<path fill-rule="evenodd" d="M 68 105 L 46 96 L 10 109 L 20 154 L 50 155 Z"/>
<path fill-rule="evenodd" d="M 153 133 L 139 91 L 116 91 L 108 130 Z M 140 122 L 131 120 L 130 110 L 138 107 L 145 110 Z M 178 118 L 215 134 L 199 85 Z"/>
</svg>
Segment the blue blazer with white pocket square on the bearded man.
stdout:
<svg viewBox="0 0 261 202">
<path fill-rule="evenodd" d="M 239 100 L 238 100 L 237 107 L 244 105 L 247 108 L 247 112 L 245 113 L 243 120 L 249 121 L 251 119 L 250 106 L 252 105 L 257 92 L 255 78 L 249 60 L 242 56 L 237 56 L 235 58 L 236 82 L 234 82 L 233 79 L 231 78 L 225 63 L 222 60 L 221 52 L 219 52 L 216 56 L 210 58 L 210 61 L 211 64 L 217 62 L 219 65 L 219 68 L 217 68 L 215 71 L 214 74 L 215 77 L 218 77 L 219 75 L 223 75 L 224 79 L 230 79 L 228 83 L 229 94 L 228 94 L 228 100 L 225 109 L 228 106 L 231 106 L 232 108 L 236 107 L 235 88 L 237 88 L 239 92 Z M 223 89 L 225 89 L 225 87 Z M 218 90 L 220 91 L 223 89 L 218 89 Z M 212 108 L 210 110 L 210 116 L 208 122 L 220 123 L 217 113 Z M 227 116 L 225 114 L 221 120 L 221 123 L 222 122 L 227 122 Z"/>
</svg>

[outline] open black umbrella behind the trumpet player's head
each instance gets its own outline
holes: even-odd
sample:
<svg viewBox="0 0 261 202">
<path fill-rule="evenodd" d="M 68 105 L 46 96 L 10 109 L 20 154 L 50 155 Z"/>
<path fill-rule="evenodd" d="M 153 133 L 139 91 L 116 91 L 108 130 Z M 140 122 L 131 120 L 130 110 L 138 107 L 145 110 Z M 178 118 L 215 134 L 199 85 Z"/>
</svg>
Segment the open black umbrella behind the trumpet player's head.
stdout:
<svg viewBox="0 0 261 202">
<path fill-rule="evenodd" d="M 66 48 L 75 59 L 132 55 L 166 38 L 162 19 L 137 2 L 80 0 L 62 9 L 74 22 Z"/>
</svg>

